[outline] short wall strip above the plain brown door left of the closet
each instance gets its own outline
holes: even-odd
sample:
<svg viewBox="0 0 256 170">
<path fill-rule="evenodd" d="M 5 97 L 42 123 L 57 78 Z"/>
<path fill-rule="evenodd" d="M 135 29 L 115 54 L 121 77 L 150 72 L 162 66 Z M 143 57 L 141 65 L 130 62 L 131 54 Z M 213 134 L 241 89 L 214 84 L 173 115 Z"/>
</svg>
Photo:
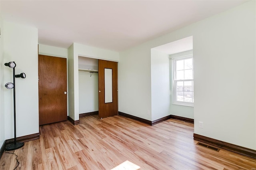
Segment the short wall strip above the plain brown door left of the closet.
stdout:
<svg viewBox="0 0 256 170">
<path fill-rule="evenodd" d="M 68 49 L 38 44 L 38 54 L 68 58 Z"/>
</svg>

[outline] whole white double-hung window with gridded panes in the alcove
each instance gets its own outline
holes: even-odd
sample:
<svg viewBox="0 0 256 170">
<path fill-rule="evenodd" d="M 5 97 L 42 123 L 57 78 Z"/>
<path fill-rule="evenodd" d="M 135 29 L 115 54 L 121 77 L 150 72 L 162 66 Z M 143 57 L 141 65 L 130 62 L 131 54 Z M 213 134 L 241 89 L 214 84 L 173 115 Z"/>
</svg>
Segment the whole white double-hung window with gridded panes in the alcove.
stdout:
<svg viewBox="0 0 256 170">
<path fill-rule="evenodd" d="M 178 57 L 173 62 L 173 104 L 194 105 L 193 55 Z"/>
</svg>

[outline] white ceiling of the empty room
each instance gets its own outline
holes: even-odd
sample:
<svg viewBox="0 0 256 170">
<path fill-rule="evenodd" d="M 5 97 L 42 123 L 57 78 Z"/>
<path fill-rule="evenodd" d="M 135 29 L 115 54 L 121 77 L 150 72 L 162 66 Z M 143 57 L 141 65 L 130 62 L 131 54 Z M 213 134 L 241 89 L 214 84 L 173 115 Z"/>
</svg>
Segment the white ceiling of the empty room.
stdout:
<svg viewBox="0 0 256 170">
<path fill-rule="evenodd" d="M 38 43 L 122 51 L 246 0 L 1 0 L 1 17 L 38 28 Z"/>
</svg>

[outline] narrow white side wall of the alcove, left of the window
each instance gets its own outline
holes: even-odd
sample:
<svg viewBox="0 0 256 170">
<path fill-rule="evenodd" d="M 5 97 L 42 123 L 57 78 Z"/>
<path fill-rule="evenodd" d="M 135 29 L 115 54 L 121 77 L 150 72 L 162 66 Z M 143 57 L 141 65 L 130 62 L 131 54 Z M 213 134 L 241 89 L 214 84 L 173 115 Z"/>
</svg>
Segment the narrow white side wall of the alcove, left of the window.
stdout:
<svg viewBox="0 0 256 170">
<path fill-rule="evenodd" d="M 151 107 L 152 121 L 170 115 L 169 55 L 151 49 Z"/>
</svg>

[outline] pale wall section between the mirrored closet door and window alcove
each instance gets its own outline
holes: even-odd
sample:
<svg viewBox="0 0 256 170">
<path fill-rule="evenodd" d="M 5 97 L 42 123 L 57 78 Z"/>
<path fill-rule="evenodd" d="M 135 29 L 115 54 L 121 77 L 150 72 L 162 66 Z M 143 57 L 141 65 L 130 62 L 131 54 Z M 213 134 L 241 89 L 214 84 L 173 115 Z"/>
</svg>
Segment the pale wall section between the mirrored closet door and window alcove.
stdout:
<svg viewBox="0 0 256 170">
<path fill-rule="evenodd" d="M 145 46 L 120 52 L 118 111 L 151 121 L 151 48 Z"/>
</svg>

